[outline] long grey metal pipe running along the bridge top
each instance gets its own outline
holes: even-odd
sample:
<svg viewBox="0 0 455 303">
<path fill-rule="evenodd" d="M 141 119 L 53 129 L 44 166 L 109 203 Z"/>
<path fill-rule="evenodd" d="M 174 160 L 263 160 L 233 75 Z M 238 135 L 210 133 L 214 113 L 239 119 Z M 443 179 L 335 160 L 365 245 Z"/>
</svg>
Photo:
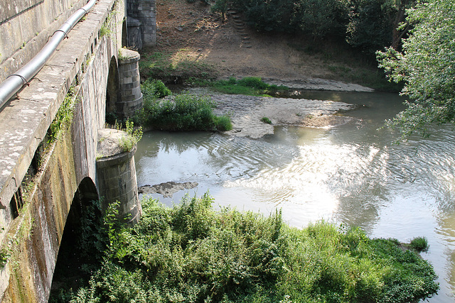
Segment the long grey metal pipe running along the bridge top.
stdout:
<svg viewBox="0 0 455 303">
<path fill-rule="evenodd" d="M 11 99 L 31 78 L 33 78 L 43 68 L 46 62 L 58 48 L 60 42 L 68 37 L 68 33 L 73 29 L 80 18 L 92 9 L 97 0 L 90 0 L 81 9 L 78 9 L 73 15 L 65 21 L 60 28 L 52 35 L 48 43 L 40 50 L 32 60 L 24 65 L 20 70 L 13 75 L 9 75 L 4 82 L 0 84 L 0 109 L 6 104 L 6 101 Z"/>
</svg>

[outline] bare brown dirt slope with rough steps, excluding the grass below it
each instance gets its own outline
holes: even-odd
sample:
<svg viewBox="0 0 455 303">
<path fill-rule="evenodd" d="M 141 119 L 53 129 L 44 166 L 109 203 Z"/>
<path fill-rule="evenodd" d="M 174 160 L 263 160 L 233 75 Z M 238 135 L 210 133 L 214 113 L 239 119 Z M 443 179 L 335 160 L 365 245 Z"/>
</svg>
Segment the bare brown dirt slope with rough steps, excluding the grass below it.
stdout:
<svg viewBox="0 0 455 303">
<path fill-rule="evenodd" d="M 154 51 L 213 64 L 222 78 L 256 76 L 306 83 L 314 83 L 314 78 L 343 80 L 320 59 L 289 46 L 299 42 L 296 37 L 256 33 L 242 24 L 239 15 L 228 14 L 223 23 L 201 1 L 158 0 L 156 6 L 158 45 Z"/>
</svg>

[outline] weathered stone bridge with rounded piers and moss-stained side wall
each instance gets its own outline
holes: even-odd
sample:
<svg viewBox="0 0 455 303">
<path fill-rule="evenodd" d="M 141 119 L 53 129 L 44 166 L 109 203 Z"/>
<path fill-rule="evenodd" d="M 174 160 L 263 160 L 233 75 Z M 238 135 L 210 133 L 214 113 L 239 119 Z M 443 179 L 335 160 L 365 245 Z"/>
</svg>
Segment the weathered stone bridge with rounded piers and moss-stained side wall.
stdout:
<svg viewBox="0 0 455 303">
<path fill-rule="evenodd" d="M 0 82 L 86 4 L 0 0 Z M 119 200 L 132 220 L 140 216 L 135 147 L 122 149 L 105 117 L 124 119 L 141 107 L 139 53 L 122 46 L 154 44 L 154 28 L 142 26 L 154 23 L 154 0 L 97 0 L 84 15 L 38 74 L 20 76 L 23 88 L 1 104 L 1 302 L 48 301 L 71 207 L 103 197 Z M 139 43 L 128 44 L 127 16 Z M 121 149 L 100 152 L 108 141 Z"/>
</svg>

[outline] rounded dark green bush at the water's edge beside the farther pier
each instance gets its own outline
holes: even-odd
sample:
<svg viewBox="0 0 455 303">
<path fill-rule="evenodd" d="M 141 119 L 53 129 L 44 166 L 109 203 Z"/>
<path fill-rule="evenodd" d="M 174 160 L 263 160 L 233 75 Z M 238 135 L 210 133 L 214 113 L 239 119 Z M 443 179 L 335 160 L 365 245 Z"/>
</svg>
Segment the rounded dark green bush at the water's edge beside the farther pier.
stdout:
<svg viewBox="0 0 455 303">
<path fill-rule="evenodd" d="M 144 94 L 145 96 L 145 94 Z M 229 116 L 215 116 L 215 103 L 208 97 L 178 94 L 172 99 L 144 97 L 139 112 L 142 125 L 169 131 L 230 131 Z"/>
</svg>

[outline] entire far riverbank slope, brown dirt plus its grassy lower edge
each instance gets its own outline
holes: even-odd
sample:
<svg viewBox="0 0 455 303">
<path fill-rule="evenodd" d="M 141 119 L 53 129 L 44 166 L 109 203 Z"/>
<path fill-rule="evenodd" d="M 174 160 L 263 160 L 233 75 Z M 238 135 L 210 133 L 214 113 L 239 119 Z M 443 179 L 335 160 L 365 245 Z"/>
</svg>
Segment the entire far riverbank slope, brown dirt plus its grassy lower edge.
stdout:
<svg viewBox="0 0 455 303">
<path fill-rule="evenodd" d="M 239 18 L 228 14 L 223 22 L 199 1 L 159 2 L 156 18 L 157 45 L 141 50 L 144 78 L 183 84 L 188 77 L 261 77 L 270 84 L 336 91 L 387 86 L 374 58 L 343 41 L 258 33 L 246 25 L 238 31 Z"/>
</svg>

